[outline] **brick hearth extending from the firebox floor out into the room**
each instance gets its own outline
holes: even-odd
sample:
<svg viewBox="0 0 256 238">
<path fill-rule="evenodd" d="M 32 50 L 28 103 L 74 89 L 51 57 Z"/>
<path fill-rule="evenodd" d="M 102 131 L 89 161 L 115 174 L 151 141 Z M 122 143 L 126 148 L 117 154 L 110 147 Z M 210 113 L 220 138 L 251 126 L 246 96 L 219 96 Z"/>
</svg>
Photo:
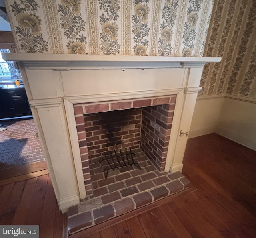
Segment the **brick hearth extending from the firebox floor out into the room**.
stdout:
<svg viewBox="0 0 256 238">
<path fill-rule="evenodd" d="M 133 152 L 141 170 L 134 165 L 110 170 L 107 179 L 104 177 L 106 165 L 98 163 L 100 158 L 90 161 L 93 194 L 69 208 L 70 234 L 190 187 L 190 182 L 182 173 L 159 172 L 141 149 L 134 149 Z"/>
</svg>

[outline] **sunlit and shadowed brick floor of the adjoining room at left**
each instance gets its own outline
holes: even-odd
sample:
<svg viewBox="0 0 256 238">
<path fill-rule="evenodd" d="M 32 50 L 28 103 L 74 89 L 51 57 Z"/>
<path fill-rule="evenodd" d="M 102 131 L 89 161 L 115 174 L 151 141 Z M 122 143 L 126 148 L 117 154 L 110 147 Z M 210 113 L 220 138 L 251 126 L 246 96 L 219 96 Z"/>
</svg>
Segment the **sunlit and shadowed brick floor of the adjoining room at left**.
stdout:
<svg viewBox="0 0 256 238">
<path fill-rule="evenodd" d="M 44 161 L 34 119 L 0 123 L 7 128 L 0 132 L 0 170 Z"/>
</svg>

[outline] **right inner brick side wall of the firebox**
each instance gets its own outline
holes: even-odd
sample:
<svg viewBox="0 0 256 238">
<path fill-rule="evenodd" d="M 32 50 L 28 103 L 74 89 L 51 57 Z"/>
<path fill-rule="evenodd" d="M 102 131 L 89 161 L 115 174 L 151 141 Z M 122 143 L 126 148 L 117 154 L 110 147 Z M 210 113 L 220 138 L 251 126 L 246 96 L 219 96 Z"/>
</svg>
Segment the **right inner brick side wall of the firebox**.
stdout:
<svg viewBox="0 0 256 238">
<path fill-rule="evenodd" d="M 164 171 L 174 103 L 150 106 L 142 109 L 140 148 L 160 170 Z"/>
</svg>

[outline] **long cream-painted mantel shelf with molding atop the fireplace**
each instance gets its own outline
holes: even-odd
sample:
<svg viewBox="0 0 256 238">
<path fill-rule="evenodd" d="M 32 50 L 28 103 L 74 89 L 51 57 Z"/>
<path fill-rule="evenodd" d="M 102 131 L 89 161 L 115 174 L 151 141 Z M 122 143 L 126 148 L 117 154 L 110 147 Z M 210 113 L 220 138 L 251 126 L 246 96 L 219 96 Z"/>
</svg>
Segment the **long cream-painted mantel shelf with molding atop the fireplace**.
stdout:
<svg viewBox="0 0 256 238">
<path fill-rule="evenodd" d="M 2 53 L 6 61 L 22 62 L 28 69 L 144 69 L 193 68 L 220 62 L 219 57 L 165 57 L 132 55 L 71 55 Z"/>
</svg>

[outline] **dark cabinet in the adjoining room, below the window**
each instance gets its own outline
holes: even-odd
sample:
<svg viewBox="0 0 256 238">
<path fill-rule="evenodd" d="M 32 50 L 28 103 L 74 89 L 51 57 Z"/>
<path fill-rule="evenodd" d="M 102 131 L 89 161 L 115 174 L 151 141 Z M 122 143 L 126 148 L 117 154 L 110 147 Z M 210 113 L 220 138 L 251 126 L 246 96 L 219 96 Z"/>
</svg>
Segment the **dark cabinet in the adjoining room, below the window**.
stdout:
<svg viewBox="0 0 256 238">
<path fill-rule="evenodd" d="M 23 87 L 0 89 L 0 118 L 32 115 Z"/>
</svg>

